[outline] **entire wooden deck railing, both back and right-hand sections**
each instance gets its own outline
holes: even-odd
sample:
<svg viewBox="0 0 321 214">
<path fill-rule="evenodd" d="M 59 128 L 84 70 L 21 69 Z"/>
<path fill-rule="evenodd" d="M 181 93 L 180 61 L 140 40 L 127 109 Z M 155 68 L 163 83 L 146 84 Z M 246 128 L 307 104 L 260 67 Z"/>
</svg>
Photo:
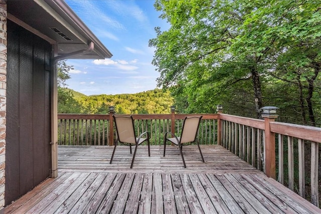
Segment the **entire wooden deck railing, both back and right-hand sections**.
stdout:
<svg viewBox="0 0 321 214">
<path fill-rule="evenodd" d="M 113 145 L 115 130 L 109 115 L 58 114 L 58 139 L 63 145 Z M 200 114 L 193 114 L 200 115 Z M 318 173 L 321 128 L 228 114 L 202 114 L 198 139 L 219 144 L 319 206 Z M 180 134 L 187 114 L 136 114 L 137 136 L 149 131 L 152 145 L 162 145 L 165 132 Z M 110 134 L 111 133 L 111 134 Z M 304 146 L 305 145 L 305 146 Z M 294 152 L 296 150 L 297 152 Z M 307 152 L 309 155 L 306 155 Z M 297 155 L 294 155 L 297 154 Z M 307 158 L 309 157 L 309 158 Z M 309 166 L 306 168 L 306 166 Z M 295 172 L 295 173 L 294 173 Z M 310 194 L 305 195 L 309 188 Z"/>
</svg>

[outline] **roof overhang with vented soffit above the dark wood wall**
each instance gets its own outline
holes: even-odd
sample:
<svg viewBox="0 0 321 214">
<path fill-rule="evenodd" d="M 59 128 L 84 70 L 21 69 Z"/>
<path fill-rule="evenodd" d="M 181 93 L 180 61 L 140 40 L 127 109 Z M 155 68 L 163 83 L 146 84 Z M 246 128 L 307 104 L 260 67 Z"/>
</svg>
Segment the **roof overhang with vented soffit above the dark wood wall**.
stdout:
<svg viewBox="0 0 321 214">
<path fill-rule="evenodd" d="M 64 1 L 7 1 L 7 13 L 9 20 L 56 45 L 56 56 L 67 56 L 67 59 L 112 57 Z M 87 49 L 92 43 L 92 52 L 78 56 L 72 54 Z"/>
</svg>

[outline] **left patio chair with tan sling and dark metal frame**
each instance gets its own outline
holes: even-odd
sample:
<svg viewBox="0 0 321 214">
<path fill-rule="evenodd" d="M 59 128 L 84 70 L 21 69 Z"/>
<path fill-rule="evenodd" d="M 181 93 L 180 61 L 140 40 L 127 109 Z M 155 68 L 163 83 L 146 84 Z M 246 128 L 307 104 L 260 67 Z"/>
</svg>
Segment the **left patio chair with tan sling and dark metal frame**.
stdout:
<svg viewBox="0 0 321 214">
<path fill-rule="evenodd" d="M 131 146 L 135 145 L 134 154 L 132 156 L 131 165 L 130 168 L 132 168 L 135 160 L 135 155 L 137 151 L 138 145 L 140 145 L 143 142 L 147 142 L 148 146 L 148 156 L 150 156 L 150 150 L 149 150 L 149 133 L 143 132 L 138 137 L 136 137 L 135 134 L 135 127 L 134 127 L 134 120 L 132 119 L 132 116 L 125 116 L 125 115 L 112 115 L 115 121 L 115 128 L 117 133 L 117 139 L 115 142 L 115 147 L 112 152 L 111 158 L 110 158 L 110 164 L 112 162 L 112 159 L 114 158 L 116 146 L 118 142 L 129 146 L 130 148 L 130 154 L 131 154 Z M 143 135 L 147 135 L 147 138 L 142 138 Z"/>
</svg>

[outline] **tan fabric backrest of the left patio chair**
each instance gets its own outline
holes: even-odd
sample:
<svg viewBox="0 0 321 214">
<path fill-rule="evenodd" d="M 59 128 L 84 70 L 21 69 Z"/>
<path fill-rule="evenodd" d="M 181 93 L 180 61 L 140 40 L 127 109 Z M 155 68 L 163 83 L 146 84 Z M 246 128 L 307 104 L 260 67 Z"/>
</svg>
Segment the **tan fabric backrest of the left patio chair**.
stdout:
<svg viewBox="0 0 321 214">
<path fill-rule="evenodd" d="M 132 116 L 112 115 L 115 121 L 118 140 L 121 143 L 136 144 L 134 120 Z"/>
</svg>

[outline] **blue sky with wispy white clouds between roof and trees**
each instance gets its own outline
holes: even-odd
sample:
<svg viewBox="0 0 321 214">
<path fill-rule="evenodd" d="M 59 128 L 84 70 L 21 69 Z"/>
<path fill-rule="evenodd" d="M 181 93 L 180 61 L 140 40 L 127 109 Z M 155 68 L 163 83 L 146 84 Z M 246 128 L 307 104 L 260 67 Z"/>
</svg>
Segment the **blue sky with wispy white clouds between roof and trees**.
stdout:
<svg viewBox="0 0 321 214">
<path fill-rule="evenodd" d="M 169 24 L 159 17 L 151 0 L 65 1 L 113 54 L 105 60 L 68 60 L 73 65 L 68 88 L 85 95 L 137 93 L 156 88 L 159 73 L 151 65 L 155 27 Z"/>
</svg>

